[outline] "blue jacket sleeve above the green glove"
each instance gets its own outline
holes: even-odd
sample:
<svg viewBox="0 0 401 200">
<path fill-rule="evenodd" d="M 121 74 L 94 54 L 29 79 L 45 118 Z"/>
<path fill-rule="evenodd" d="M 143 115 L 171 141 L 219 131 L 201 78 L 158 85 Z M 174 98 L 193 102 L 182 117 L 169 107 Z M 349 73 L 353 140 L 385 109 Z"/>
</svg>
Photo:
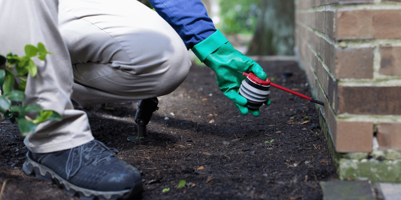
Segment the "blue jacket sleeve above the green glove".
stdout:
<svg viewBox="0 0 401 200">
<path fill-rule="evenodd" d="M 149 0 L 156 12 L 181 36 L 190 49 L 216 32 L 200 0 Z"/>
</svg>

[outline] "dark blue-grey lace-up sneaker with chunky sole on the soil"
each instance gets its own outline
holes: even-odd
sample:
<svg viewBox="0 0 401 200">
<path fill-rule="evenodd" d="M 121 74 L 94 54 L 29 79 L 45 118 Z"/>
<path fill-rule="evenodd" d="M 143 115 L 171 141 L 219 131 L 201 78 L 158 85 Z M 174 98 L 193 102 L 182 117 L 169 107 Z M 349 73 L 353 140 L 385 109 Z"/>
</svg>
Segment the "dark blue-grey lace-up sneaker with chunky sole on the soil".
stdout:
<svg viewBox="0 0 401 200">
<path fill-rule="evenodd" d="M 22 169 L 83 200 L 126 199 L 142 192 L 139 170 L 113 152 L 97 140 L 46 154 L 28 151 Z"/>
</svg>

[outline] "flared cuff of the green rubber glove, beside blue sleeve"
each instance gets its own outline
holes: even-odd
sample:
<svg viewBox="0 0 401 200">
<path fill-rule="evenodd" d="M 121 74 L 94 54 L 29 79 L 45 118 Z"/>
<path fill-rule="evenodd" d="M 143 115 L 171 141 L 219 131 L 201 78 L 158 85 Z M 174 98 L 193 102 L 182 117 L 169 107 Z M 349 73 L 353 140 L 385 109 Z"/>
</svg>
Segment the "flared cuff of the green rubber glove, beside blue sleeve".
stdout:
<svg viewBox="0 0 401 200">
<path fill-rule="evenodd" d="M 220 30 L 217 30 L 205 40 L 196 44 L 194 48 L 192 48 L 192 52 L 194 52 L 196 57 L 203 62 L 207 56 L 227 42 L 227 38 L 220 32 Z"/>
</svg>

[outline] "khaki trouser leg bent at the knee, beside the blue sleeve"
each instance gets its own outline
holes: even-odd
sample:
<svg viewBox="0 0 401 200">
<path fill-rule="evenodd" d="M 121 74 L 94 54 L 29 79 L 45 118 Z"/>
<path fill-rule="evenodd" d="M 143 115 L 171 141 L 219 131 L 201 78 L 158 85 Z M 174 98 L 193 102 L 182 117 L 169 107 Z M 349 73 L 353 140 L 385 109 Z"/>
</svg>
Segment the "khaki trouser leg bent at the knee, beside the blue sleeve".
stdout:
<svg viewBox="0 0 401 200">
<path fill-rule="evenodd" d="M 59 29 L 78 107 L 169 94 L 191 66 L 180 36 L 136 0 L 61 0 Z"/>
</svg>

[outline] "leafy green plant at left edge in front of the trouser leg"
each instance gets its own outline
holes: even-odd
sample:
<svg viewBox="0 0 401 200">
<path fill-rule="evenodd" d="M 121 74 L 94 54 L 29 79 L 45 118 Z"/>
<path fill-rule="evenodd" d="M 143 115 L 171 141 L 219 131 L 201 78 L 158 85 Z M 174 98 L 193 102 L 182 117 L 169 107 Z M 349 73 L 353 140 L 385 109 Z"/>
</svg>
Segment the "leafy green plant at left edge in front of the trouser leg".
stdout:
<svg viewBox="0 0 401 200">
<path fill-rule="evenodd" d="M 24 90 L 28 74 L 36 76 L 38 68 L 32 57 L 45 60 L 48 52 L 41 42 L 38 46 L 26 45 L 25 56 L 19 57 L 12 52 L 6 57 L 0 55 L 0 85 L 2 85 L 2 96 L 0 96 L 0 112 L 3 114 L 1 120 L 10 120 L 17 123 L 22 135 L 33 133 L 38 124 L 48 120 L 61 120 L 60 114 L 53 110 L 43 110 L 38 104 L 25 105 Z M 16 82 L 19 82 L 18 84 Z M 18 88 L 18 89 L 16 89 Z M 12 103 L 16 102 L 16 103 Z M 26 115 L 28 112 L 37 113 L 35 119 Z"/>
</svg>

